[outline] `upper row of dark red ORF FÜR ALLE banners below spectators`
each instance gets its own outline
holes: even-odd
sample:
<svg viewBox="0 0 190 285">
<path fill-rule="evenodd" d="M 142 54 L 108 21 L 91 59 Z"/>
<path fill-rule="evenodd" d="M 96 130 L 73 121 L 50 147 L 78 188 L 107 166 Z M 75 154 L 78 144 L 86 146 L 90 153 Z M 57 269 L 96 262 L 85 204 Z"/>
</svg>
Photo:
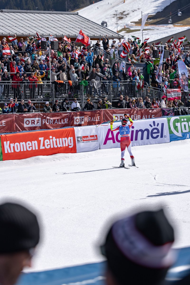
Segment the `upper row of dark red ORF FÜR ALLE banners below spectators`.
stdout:
<svg viewBox="0 0 190 285">
<path fill-rule="evenodd" d="M 114 119 L 114 116 L 116 120 L 121 120 L 124 113 L 127 113 L 132 120 L 140 120 L 161 117 L 162 109 L 140 109 L 139 111 L 102 109 L 79 112 L 3 114 L 0 115 L 0 133 L 98 125 L 103 121 Z"/>
</svg>

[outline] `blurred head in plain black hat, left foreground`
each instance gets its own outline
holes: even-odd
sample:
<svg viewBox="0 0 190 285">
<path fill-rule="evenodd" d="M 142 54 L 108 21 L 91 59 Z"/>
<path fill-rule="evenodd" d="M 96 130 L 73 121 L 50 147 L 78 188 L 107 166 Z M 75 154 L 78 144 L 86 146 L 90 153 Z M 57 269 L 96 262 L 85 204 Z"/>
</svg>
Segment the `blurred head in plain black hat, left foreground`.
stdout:
<svg viewBox="0 0 190 285">
<path fill-rule="evenodd" d="M 31 259 L 39 242 L 40 230 L 36 215 L 25 207 L 0 205 L 0 284 L 13 285 Z"/>
</svg>

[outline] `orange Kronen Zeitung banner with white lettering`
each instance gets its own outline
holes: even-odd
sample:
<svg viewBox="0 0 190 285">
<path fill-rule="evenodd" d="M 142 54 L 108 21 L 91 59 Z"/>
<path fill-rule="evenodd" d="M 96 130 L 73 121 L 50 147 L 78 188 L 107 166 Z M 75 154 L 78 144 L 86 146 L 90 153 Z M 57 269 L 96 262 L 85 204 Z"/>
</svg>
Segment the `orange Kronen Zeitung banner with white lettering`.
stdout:
<svg viewBox="0 0 190 285">
<path fill-rule="evenodd" d="M 76 152 L 74 128 L 0 135 L 0 139 L 3 160 Z"/>
</svg>

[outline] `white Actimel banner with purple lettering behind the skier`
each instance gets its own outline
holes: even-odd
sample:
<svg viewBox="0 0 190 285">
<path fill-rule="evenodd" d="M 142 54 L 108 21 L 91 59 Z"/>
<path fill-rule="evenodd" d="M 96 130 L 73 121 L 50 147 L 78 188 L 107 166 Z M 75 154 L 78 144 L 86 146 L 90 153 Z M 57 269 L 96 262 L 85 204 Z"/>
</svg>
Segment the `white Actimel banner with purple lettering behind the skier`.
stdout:
<svg viewBox="0 0 190 285">
<path fill-rule="evenodd" d="M 113 124 L 117 127 L 121 123 Z M 111 131 L 109 126 L 98 127 L 100 149 L 120 147 L 119 131 Z M 169 143 L 169 129 L 166 118 L 134 121 L 130 128 L 132 146 Z"/>
</svg>

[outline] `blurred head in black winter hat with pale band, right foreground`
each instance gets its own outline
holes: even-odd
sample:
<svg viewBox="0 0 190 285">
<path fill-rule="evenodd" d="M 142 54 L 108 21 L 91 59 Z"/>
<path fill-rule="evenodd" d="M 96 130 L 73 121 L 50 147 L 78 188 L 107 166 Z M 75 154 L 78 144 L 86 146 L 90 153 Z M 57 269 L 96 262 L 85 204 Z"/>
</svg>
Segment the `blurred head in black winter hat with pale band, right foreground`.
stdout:
<svg viewBox="0 0 190 285">
<path fill-rule="evenodd" d="M 158 284 L 175 261 L 173 228 L 163 209 L 144 211 L 116 221 L 102 254 L 119 284 Z"/>
</svg>

